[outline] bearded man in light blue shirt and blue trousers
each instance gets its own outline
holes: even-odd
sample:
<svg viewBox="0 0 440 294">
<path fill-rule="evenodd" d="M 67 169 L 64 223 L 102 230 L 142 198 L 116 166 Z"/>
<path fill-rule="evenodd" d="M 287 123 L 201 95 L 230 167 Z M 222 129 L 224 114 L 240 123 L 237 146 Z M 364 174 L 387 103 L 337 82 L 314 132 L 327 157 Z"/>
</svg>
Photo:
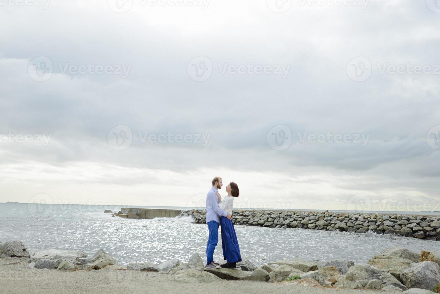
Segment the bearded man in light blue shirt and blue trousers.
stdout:
<svg viewBox="0 0 440 294">
<path fill-rule="evenodd" d="M 214 250 L 219 241 L 220 216 L 227 217 L 232 221 L 231 214 L 219 207 L 218 189 L 221 189 L 223 182 L 220 176 L 213 178 L 213 187 L 206 195 L 206 224 L 208 224 L 209 236 L 206 244 L 206 268 L 220 268 L 220 264 L 214 262 Z"/>
</svg>

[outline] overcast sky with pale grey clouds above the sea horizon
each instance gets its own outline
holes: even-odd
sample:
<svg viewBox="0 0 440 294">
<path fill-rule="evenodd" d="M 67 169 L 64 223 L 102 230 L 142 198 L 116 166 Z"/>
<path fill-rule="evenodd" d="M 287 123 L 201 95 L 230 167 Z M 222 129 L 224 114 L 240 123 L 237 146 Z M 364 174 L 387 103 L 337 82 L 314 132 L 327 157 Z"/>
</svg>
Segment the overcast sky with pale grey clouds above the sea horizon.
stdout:
<svg viewBox="0 0 440 294">
<path fill-rule="evenodd" d="M 0 202 L 440 210 L 438 0 L 0 5 Z"/>
</svg>

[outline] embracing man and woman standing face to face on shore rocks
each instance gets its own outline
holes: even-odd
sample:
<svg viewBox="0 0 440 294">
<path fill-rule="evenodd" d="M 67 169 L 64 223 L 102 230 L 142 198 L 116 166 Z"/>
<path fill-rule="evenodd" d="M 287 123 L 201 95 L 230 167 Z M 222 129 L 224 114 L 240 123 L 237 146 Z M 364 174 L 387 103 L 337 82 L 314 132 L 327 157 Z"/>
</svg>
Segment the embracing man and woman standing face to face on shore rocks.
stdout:
<svg viewBox="0 0 440 294">
<path fill-rule="evenodd" d="M 232 206 L 234 197 L 238 197 L 237 184 L 231 182 L 226 186 L 227 196 L 222 200 L 219 189 L 223 186 L 222 179 L 216 176 L 213 179 L 213 187 L 206 196 L 206 224 L 208 224 L 209 237 L 206 244 L 206 267 L 205 268 L 235 268 L 236 263 L 242 261 L 237 235 L 232 223 Z M 221 242 L 223 258 L 227 261 L 220 265 L 214 262 L 214 250 L 218 243 L 218 229 L 221 226 Z"/>
</svg>

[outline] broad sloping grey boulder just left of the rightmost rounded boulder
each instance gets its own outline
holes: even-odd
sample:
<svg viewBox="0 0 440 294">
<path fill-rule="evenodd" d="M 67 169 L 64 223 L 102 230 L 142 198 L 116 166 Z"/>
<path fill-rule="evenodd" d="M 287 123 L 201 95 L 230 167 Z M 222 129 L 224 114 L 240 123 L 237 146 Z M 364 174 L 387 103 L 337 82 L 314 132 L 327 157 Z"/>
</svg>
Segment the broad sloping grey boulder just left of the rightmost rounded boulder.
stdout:
<svg viewBox="0 0 440 294">
<path fill-rule="evenodd" d="M 382 287 L 394 286 L 405 290 L 405 285 L 400 283 L 399 280 L 393 277 L 389 272 L 385 272 L 383 269 L 367 263 L 361 263 L 350 267 L 345 274 L 344 279 L 348 281 L 378 279 L 382 281 Z"/>
</svg>

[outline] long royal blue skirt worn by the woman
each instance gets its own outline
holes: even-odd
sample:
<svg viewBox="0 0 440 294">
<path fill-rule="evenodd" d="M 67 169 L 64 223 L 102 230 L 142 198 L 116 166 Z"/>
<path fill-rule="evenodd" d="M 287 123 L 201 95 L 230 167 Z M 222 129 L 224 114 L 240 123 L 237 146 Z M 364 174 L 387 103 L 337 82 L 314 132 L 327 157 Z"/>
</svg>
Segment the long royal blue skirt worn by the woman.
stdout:
<svg viewBox="0 0 440 294">
<path fill-rule="evenodd" d="M 227 260 L 227 262 L 242 261 L 234 224 L 231 220 L 227 219 L 227 217 L 220 217 L 220 225 L 223 258 Z"/>
</svg>

